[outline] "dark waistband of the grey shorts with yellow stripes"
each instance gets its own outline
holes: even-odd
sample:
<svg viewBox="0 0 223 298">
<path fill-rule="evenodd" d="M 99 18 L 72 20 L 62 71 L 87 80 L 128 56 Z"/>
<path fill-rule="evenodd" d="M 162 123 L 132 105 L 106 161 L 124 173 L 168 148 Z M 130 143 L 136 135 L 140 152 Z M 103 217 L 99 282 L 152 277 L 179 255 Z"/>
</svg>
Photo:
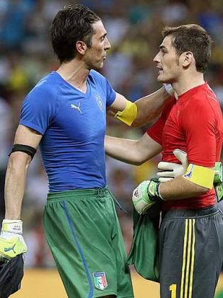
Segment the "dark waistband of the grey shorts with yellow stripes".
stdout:
<svg viewBox="0 0 223 298">
<path fill-rule="evenodd" d="M 164 219 L 175 217 L 200 217 L 214 215 L 218 212 L 219 209 L 217 205 L 213 205 L 203 209 L 170 209 L 163 217 Z"/>
</svg>

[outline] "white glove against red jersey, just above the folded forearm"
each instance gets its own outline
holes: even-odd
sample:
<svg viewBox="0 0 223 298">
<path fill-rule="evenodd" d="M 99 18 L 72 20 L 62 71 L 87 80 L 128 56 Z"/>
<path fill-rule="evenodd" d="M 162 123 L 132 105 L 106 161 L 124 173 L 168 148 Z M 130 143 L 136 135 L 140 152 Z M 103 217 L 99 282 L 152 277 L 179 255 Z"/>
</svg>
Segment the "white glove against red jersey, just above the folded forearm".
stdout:
<svg viewBox="0 0 223 298">
<path fill-rule="evenodd" d="M 180 149 L 175 149 L 173 154 L 180 160 L 181 165 L 174 162 L 159 162 L 157 166 L 159 171 L 156 173 L 159 182 L 168 182 L 177 176 L 185 174 L 188 167 L 187 153 Z"/>
</svg>

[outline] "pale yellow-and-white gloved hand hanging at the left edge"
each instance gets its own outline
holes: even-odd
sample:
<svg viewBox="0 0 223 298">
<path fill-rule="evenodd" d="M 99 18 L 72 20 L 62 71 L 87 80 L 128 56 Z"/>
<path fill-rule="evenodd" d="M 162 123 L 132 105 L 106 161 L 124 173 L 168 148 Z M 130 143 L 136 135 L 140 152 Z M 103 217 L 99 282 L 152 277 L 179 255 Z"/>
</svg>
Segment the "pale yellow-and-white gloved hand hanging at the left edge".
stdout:
<svg viewBox="0 0 223 298">
<path fill-rule="evenodd" d="M 0 261 L 10 260 L 16 255 L 27 253 L 22 233 L 22 221 L 4 219 L 0 234 Z"/>
</svg>

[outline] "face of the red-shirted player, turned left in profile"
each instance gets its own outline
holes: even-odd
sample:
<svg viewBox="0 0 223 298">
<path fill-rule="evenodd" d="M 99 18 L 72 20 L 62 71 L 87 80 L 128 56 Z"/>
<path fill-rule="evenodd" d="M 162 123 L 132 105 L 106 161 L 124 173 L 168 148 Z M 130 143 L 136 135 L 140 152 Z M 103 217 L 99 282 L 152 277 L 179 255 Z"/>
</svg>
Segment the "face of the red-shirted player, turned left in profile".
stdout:
<svg viewBox="0 0 223 298">
<path fill-rule="evenodd" d="M 171 43 L 170 35 L 163 39 L 160 50 L 153 62 L 158 68 L 158 82 L 173 84 L 180 76 L 179 56 L 175 53 L 175 48 Z"/>
</svg>

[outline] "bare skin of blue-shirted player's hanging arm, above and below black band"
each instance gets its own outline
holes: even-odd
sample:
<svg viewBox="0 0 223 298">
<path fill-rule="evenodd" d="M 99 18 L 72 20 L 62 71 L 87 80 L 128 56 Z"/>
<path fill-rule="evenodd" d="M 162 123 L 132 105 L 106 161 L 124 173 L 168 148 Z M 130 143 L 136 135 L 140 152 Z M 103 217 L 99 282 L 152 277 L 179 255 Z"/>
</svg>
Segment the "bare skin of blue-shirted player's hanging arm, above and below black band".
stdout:
<svg viewBox="0 0 223 298">
<path fill-rule="evenodd" d="M 19 125 L 14 143 L 37 148 L 42 136 L 26 126 Z M 5 219 L 20 219 L 21 204 L 26 186 L 26 174 L 31 157 L 22 152 L 14 152 L 9 158 L 5 182 Z"/>
</svg>

